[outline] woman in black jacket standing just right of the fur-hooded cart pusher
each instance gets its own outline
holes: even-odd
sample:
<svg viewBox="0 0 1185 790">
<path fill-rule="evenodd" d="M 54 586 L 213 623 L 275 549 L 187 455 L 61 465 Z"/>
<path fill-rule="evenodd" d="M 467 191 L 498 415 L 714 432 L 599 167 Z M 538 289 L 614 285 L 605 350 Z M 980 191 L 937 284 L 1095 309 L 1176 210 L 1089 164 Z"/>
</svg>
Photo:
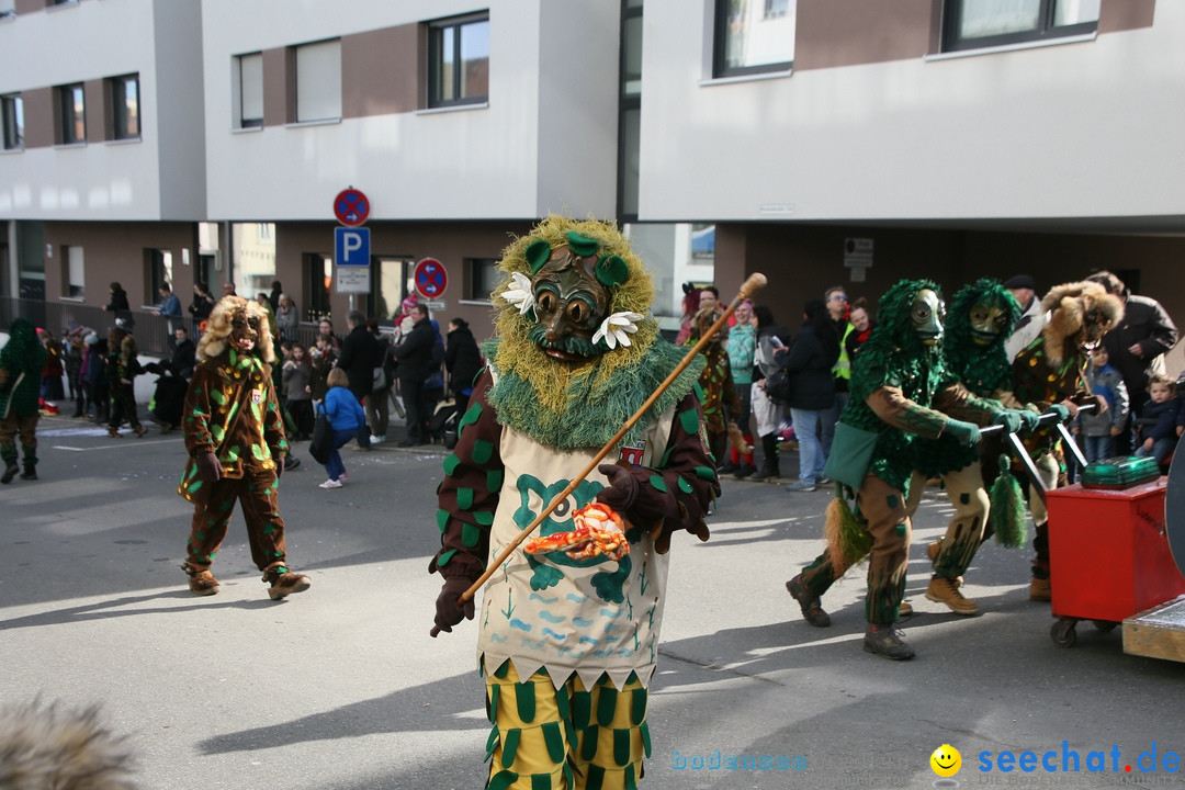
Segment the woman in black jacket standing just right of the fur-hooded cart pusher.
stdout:
<svg viewBox="0 0 1185 790">
<path fill-rule="evenodd" d="M 1123 300 L 1123 319 L 1117 327 L 1103 335 L 1102 343 L 1110 364 L 1123 377 L 1134 418 L 1144 413 L 1144 405 L 1152 399 L 1148 394 L 1148 378 L 1164 371 L 1164 354 L 1177 345 L 1177 325 L 1160 302 L 1148 296 L 1136 296 L 1112 272 L 1098 271 L 1087 280 Z M 1129 429 L 1115 437 L 1115 455 L 1129 455 L 1139 447 L 1136 429 L 1133 419 Z"/>
</svg>

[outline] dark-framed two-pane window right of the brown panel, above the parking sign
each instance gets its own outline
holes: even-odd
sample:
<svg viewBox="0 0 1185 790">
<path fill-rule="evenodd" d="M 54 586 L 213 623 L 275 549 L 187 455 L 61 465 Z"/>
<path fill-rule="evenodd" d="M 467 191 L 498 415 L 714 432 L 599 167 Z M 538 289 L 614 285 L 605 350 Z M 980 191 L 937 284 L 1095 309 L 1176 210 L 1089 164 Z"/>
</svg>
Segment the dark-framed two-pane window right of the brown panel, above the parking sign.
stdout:
<svg viewBox="0 0 1185 790">
<path fill-rule="evenodd" d="M 489 14 L 428 24 L 428 105 L 489 99 Z"/>
</svg>

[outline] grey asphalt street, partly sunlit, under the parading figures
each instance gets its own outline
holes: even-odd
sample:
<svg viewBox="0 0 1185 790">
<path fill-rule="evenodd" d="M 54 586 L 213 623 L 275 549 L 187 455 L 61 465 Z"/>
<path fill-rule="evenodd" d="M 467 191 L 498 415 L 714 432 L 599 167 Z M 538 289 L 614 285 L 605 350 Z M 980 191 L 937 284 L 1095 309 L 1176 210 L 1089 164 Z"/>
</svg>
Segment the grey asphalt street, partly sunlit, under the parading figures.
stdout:
<svg viewBox="0 0 1185 790">
<path fill-rule="evenodd" d="M 64 418 L 40 429 L 41 480 L 0 488 L 0 700 L 101 702 L 145 788 L 482 786 L 475 629 L 428 636 L 438 448 L 347 452 L 346 487 L 322 490 L 299 445 L 281 510 L 313 587 L 271 602 L 238 516 L 214 566 L 222 592 L 188 592 L 180 437 L 110 439 Z M 1183 667 L 1125 655 L 1119 630 L 1085 623 L 1077 647 L 1055 646 L 1049 606 L 1027 600 L 1026 551 L 981 550 L 965 587 L 979 617 L 922 597 L 923 546 L 948 513 L 937 492 L 911 551 L 904 630 L 918 657 L 860 649 L 861 569 L 825 599 L 832 628 L 807 625 L 783 584 L 820 550 L 827 501 L 726 479 L 711 541 L 674 541 L 643 788 L 1179 782 L 1165 769 L 1185 752 Z M 929 764 L 943 744 L 962 754 L 952 779 Z M 1158 770 L 1141 772 L 1153 750 Z M 1036 770 L 1001 770 L 1003 752 L 1025 751 Z M 767 757 L 786 767 L 756 767 Z"/>
</svg>

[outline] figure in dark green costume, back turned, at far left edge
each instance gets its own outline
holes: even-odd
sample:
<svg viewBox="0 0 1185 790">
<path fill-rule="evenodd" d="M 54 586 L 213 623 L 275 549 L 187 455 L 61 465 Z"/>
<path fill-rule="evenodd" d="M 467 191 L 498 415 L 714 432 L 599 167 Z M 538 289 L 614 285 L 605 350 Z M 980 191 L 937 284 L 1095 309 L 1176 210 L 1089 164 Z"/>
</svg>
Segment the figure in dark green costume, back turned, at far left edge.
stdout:
<svg viewBox="0 0 1185 790">
<path fill-rule="evenodd" d="M 25 452 L 21 480 L 37 480 L 37 420 L 38 393 L 41 388 L 41 368 L 45 348 L 37 339 L 28 319 L 15 319 L 8 327 L 8 342 L 0 349 L 0 458 L 4 476 L 9 483 L 20 468 L 17 465 L 17 437 Z"/>
</svg>

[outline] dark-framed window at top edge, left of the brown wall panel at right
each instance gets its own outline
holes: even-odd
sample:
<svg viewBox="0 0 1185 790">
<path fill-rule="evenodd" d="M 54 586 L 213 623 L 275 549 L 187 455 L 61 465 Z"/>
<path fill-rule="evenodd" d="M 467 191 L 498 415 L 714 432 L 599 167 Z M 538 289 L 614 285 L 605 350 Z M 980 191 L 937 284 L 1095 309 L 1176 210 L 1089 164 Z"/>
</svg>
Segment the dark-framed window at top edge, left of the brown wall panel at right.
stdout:
<svg viewBox="0 0 1185 790">
<path fill-rule="evenodd" d="M 716 0 L 712 75 L 737 77 L 794 65 L 796 0 Z"/>
</svg>

